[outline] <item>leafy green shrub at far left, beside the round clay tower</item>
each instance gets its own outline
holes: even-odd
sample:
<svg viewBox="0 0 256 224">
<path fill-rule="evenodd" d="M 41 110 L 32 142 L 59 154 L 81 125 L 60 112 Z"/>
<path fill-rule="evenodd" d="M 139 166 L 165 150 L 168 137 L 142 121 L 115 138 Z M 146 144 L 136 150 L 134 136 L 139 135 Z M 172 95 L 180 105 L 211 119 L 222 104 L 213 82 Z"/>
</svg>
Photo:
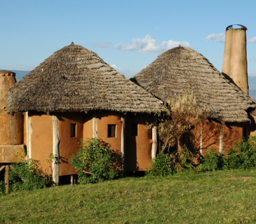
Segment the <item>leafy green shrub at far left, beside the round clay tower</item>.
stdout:
<svg viewBox="0 0 256 224">
<path fill-rule="evenodd" d="M 18 157 L 19 162 L 12 163 L 9 171 L 11 191 L 33 190 L 53 184 L 52 177 L 42 171 L 38 160 L 25 159 L 24 154 L 19 154 Z"/>
</svg>

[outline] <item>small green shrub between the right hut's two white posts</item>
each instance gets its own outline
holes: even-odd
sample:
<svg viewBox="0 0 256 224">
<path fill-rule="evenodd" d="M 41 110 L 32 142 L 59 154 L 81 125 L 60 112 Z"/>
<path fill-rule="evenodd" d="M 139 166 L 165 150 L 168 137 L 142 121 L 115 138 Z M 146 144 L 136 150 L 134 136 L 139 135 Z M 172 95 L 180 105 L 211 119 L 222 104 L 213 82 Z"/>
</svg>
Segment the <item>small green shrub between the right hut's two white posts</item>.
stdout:
<svg viewBox="0 0 256 224">
<path fill-rule="evenodd" d="M 202 157 L 200 164 L 196 167 L 198 171 L 216 171 L 223 169 L 223 155 L 210 149 Z"/>
</svg>

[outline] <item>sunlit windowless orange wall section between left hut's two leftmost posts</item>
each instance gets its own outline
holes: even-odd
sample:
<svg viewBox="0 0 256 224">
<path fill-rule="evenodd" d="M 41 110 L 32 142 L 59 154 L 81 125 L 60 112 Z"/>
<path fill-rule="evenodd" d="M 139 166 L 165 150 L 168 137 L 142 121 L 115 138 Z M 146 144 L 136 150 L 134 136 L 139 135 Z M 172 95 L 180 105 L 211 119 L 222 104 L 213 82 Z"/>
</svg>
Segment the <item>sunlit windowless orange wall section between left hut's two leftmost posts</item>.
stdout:
<svg viewBox="0 0 256 224">
<path fill-rule="evenodd" d="M 52 163 L 46 161 L 52 154 L 52 116 L 32 115 L 31 158 L 38 159 L 43 171 L 52 175 Z"/>
</svg>

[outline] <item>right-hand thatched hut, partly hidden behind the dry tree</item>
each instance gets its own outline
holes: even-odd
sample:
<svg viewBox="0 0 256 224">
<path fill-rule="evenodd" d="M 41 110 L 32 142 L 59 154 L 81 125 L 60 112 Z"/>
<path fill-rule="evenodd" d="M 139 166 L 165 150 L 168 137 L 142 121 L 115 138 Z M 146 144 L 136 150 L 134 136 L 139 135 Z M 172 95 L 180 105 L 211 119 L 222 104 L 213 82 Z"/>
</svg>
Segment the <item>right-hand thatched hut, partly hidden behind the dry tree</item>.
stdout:
<svg viewBox="0 0 256 224">
<path fill-rule="evenodd" d="M 192 92 L 198 105 L 209 109 L 208 119 L 181 138 L 180 146 L 201 154 L 210 148 L 225 154 L 249 134 L 249 112 L 255 101 L 189 47 L 165 51 L 131 80 L 163 101 Z"/>
</svg>

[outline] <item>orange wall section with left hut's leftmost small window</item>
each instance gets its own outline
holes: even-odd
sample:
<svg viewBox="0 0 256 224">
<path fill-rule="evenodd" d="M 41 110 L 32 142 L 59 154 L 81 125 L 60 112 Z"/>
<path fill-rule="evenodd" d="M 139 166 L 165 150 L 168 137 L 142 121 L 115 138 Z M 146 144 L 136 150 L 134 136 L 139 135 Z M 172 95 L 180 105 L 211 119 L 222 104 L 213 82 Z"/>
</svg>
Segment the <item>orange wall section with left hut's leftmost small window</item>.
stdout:
<svg viewBox="0 0 256 224">
<path fill-rule="evenodd" d="M 84 113 L 62 113 L 59 119 L 60 138 L 60 176 L 73 175 L 75 169 L 69 163 L 70 156 L 79 149 L 79 140 L 83 138 Z"/>
</svg>

